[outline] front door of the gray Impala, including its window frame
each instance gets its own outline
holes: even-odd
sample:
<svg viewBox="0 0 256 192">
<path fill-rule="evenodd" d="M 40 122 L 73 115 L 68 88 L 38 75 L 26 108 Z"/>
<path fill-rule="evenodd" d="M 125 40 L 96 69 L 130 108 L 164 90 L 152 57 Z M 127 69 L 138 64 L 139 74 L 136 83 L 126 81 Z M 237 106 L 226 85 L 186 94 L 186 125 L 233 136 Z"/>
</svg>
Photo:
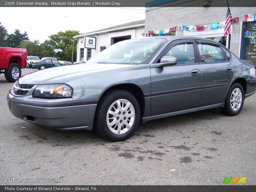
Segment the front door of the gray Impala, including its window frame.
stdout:
<svg viewBox="0 0 256 192">
<path fill-rule="evenodd" d="M 177 64 L 150 68 L 151 116 L 199 107 L 201 69 L 194 41 L 173 41 L 155 63 L 164 55 L 176 57 Z"/>
</svg>

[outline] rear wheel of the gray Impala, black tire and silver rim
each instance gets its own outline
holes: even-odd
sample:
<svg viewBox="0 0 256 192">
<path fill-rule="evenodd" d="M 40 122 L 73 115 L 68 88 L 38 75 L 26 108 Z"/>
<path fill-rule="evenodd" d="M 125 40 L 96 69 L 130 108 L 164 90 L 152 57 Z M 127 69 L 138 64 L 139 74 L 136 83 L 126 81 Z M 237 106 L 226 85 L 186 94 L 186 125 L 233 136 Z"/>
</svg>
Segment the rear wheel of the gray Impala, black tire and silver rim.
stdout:
<svg viewBox="0 0 256 192">
<path fill-rule="evenodd" d="M 225 105 L 223 108 L 220 108 L 220 110 L 224 115 L 236 116 L 242 110 L 243 105 L 244 89 L 241 84 L 235 83 L 230 87 L 225 100 Z"/>
</svg>

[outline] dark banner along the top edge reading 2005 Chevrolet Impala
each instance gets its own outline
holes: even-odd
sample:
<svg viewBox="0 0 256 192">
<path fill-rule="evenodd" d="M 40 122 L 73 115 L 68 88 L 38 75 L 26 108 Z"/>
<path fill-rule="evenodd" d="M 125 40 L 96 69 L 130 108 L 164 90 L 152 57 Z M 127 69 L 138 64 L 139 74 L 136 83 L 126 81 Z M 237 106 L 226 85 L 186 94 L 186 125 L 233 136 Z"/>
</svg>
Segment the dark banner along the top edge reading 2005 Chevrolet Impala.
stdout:
<svg viewBox="0 0 256 192">
<path fill-rule="evenodd" d="M 255 7 L 255 0 L 228 0 L 230 7 Z M 0 7 L 227 7 L 225 0 L 1 0 Z"/>
</svg>

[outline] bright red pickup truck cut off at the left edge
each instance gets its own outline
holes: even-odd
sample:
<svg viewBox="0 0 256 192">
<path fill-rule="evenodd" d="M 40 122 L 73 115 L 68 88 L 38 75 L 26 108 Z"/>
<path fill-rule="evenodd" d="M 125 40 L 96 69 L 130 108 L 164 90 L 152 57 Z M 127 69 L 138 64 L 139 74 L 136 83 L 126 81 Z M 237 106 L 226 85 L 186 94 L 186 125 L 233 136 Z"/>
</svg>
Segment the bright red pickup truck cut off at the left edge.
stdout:
<svg viewBox="0 0 256 192">
<path fill-rule="evenodd" d="M 20 48 L 0 47 L 0 74 L 11 83 L 21 76 L 21 68 L 25 68 L 27 50 Z"/>
</svg>

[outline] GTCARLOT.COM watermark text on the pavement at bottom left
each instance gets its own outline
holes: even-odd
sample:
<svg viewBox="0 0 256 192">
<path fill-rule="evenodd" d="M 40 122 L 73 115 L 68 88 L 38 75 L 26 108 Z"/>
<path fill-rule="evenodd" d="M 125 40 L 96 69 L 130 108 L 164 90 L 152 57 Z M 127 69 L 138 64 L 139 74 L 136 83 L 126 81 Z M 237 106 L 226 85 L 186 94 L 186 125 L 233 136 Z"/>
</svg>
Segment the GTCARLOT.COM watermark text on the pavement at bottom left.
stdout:
<svg viewBox="0 0 256 192">
<path fill-rule="evenodd" d="M 62 179 L 21 179 L 16 177 L 4 178 L 6 183 L 62 183 Z"/>
</svg>

